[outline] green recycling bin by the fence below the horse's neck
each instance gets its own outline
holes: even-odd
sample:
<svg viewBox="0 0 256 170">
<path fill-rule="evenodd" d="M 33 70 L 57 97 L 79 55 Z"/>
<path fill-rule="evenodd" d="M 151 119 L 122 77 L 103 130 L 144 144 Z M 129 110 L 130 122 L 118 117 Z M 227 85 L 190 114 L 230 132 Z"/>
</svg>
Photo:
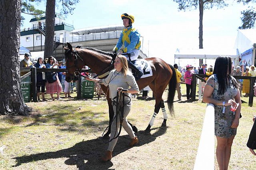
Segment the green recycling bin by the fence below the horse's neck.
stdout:
<svg viewBox="0 0 256 170">
<path fill-rule="evenodd" d="M 92 99 L 94 96 L 94 82 L 82 78 L 82 97 Z"/>
</svg>

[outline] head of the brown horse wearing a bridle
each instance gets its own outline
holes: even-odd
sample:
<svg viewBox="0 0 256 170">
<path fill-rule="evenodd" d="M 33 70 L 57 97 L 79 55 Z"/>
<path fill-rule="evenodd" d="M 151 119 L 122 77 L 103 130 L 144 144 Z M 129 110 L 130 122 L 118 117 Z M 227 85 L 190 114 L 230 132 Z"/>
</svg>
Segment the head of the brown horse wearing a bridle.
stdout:
<svg viewBox="0 0 256 170">
<path fill-rule="evenodd" d="M 66 60 L 66 81 L 71 82 L 73 78 L 79 76 L 81 69 L 84 66 L 83 59 L 78 55 L 78 51 L 67 43 L 68 47 L 65 49 Z"/>
</svg>

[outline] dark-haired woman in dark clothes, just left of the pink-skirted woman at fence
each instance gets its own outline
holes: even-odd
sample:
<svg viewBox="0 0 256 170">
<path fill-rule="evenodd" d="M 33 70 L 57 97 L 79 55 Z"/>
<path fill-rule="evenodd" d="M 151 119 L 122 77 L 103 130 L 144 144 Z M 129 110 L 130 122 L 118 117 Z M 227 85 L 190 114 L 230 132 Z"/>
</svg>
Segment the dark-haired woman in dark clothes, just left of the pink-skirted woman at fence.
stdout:
<svg viewBox="0 0 256 170">
<path fill-rule="evenodd" d="M 43 63 L 43 58 L 39 57 L 37 63 L 35 64 L 36 68 L 46 68 L 45 64 Z M 46 76 L 45 72 L 36 72 L 36 91 L 37 91 L 37 101 L 40 102 L 40 89 L 42 93 L 42 101 L 47 101 L 44 97 L 45 92 L 45 81 Z"/>
</svg>

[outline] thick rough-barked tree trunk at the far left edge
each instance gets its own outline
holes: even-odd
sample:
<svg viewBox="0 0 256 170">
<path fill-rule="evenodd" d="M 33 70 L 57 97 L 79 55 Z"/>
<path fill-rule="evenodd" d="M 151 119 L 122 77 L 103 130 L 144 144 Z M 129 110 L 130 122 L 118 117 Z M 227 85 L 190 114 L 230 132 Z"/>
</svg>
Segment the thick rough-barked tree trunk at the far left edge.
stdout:
<svg viewBox="0 0 256 170">
<path fill-rule="evenodd" d="M 20 90 L 20 0 L 0 1 L 0 115 L 28 115 Z"/>
</svg>

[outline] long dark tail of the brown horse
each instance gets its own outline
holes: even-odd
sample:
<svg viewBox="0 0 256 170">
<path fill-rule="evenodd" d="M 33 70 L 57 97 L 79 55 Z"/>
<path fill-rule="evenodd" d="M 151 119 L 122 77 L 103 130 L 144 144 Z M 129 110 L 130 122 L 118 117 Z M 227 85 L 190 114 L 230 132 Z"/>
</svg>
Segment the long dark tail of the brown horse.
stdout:
<svg viewBox="0 0 256 170">
<path fill-rule="evenodd" d="M 176 92 L 176 71 L 174 67 L 169 64 L 170 68 L 172 69 L 172 78 L 168 84 L 168 96 L 167 96 L 167 102 L 168 102 L 168 108 L 170 110 L 170 114 L 174 116 L 174 107 L 173 107 L 173 102 L 174 102 L 174 96 Z"/>
</svg>

